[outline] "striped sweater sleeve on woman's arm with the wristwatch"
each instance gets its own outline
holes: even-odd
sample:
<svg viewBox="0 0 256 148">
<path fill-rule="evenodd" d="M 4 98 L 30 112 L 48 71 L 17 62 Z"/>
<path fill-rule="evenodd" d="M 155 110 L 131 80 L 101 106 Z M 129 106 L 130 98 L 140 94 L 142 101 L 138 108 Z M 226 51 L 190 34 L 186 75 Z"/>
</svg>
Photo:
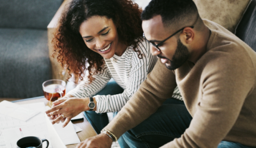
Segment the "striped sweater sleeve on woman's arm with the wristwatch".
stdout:
<svg viewBox="0 0 256 148">
<path fill-rule="evenodd" d="M 138 46 L 138 48 L 141 48 L 143 56 L 142 59 L 139 59 L 138 54 L 132 52 L 132 68 L 130 69 L 126 89 L 124 89 L 123 93 L 117 95 L 96 95 L 97 113 L 120 111 L 132 95 L 139 89 L 141 83 L 145 81 L 146 75 L 151 72 L 157 62 L 157 57 L 152 56 L 145 47 L 147 45 L 140 44 Z"/>
</svg>

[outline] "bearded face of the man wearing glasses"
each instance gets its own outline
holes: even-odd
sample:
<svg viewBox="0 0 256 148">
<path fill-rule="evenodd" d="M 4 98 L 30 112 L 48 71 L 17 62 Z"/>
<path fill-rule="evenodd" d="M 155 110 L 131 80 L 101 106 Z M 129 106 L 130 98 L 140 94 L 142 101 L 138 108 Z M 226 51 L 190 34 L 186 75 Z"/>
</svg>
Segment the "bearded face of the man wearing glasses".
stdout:
<svg viewBox="0 0 256 148">
<path fill-rule="evenodd" d="M 162 18 L 160 15 L 156 15 L 150 20 L 142 22 L 142 28 L 147 40 L 154 44 L 160 43 L 177 30 L 167 30 L 164 28 Z M 161 46 L 158 46 L 161 51 L 158 51 L 151 45 L 151 53 L 158 56 L 161 62 L 166 65 L 170 70 L 177 69 L 182 66 L 189 58 L 189 50 L 182 42 L 175 36 L 164 41 Z"/>
</svg>

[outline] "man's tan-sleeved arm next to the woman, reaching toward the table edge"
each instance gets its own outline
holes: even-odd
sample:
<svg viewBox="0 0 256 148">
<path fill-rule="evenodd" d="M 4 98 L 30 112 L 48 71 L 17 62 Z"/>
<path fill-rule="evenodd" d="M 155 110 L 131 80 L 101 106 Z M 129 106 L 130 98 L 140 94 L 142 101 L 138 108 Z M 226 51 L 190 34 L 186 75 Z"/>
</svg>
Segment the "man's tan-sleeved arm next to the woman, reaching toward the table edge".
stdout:
<svg viewBox="0 0 256 148">
<path fill-rule="evenodd" d="M 171 97 L 176 86 L 174 73 L 158 60 L 152 72 L 141 84 L 141 88 L 105 129 L 117 138 L 120 137 L 157 111 L 158 107 Z"/>
</svg>

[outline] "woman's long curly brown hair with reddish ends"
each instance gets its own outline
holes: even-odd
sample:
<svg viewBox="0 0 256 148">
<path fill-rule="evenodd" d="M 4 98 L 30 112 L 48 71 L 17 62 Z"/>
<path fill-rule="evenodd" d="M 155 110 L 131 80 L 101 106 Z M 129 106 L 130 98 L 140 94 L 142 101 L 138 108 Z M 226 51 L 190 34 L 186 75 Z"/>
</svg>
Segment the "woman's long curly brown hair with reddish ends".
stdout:
<svg viewBox="0 0 256 148">
<path fill-rule="evenodd" d="M 73 0 L 61 15 L 54 33 L 52 56 L 57 55 L 58 62 L 68 70 L 68 78 L 73 74 L 77 83 L 79 79 L 83 80 L 85 70 L 88 70 L 91 83 L 93 74 L 101 72 L 104 59 L 86 46 L 79 27 L 82 22 L 98 15 L 112 19 L 117 28 L 118 40 L 133 46 L 133 50 L 142 58 L 141 52 L 136 50 L 143 33 L 141 12 L 138 4 L 130 0 Z"/>
</svg>

